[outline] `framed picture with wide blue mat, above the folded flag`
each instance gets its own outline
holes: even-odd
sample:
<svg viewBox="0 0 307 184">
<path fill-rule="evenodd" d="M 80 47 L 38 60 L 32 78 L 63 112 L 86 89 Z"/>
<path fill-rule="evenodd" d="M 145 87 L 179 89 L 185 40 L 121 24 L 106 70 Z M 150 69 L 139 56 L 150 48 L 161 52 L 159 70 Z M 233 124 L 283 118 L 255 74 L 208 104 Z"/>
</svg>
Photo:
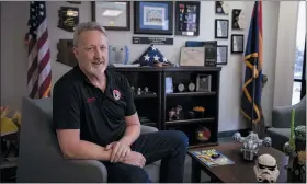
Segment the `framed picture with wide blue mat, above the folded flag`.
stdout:
<svg viewBox="0 0 307 184">
<path fill-rule="evenodd" d="M 135 34 L 173 34 L 172 1 L 135 1 Z"/>
</svg>

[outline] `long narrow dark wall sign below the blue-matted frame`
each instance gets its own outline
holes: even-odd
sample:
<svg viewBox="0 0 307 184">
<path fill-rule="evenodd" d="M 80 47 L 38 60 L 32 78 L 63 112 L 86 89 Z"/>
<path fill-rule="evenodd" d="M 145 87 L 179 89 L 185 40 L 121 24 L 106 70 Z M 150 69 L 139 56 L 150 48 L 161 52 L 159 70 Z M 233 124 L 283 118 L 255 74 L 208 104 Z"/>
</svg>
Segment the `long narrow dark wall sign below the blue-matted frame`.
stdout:
<svg viewBox="0 0 307 184">
<path fill-rule="evenodd" d="M 173 45 L 171 37 L 133 37 L 133 44 Z"/>
</svg>

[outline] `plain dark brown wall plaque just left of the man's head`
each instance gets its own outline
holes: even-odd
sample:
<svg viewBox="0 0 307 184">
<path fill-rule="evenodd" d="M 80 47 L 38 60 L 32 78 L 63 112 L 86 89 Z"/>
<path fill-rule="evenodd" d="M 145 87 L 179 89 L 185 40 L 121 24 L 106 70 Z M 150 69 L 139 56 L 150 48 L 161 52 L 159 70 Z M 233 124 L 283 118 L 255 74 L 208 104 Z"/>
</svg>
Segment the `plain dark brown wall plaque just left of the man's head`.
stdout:
<svg viewBox="0 0 307 184">
<path fill-rule="evenodd" d="M 59 39 L 57 44 L 57 61 L 64 65 L 75 67 L 78 65 L 78 60 L 73 54 L 73 41 L 72 39 Z"/>
</svg>

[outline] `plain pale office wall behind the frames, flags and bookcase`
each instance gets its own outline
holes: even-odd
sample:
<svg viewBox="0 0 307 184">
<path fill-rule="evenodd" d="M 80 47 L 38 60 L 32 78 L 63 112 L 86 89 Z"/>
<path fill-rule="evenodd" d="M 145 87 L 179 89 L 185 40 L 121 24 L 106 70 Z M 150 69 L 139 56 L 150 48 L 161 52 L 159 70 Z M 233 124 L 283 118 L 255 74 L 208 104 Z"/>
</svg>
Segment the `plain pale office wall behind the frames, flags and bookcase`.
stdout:
<svg viewBox="0 0 307 184">
<path fill-rule="evenodd" d="M 231 9 L 246 10 L 247 28 L 242 32 L 231 31 L 230 33 L 248 33 L 251 10 L 253 2 L 229 1 Z M 273 83 L 275 77 L 276 60 L 276 32 L 278 25 L 280 2 L 263 1 L 263 37 L 264 37 L 264 68 L 263 72 L 268 74 L 269 81 L 263 91 L 263 110 L 268 124 L 271 122 L 271 110 L 273 106 Z M 49 43 L 52 53 L 53 83 L 55 83 L 70 67 L 56 61 L 56 44 L 60 38 L 72 38 L 72 33 L 59 30 L 57 27 L 58 10 L 60 7 L 79 7 L 80 21 L 90 21 L 91 5 L 84 2 L 80 5 L 69 4 L 66 1 L 47 1 L 47 19 L 49 26 Z M 1 105 L 9 105 L 12 110 L 20 110 L 21 96 L 26 95 L 26 49 L 23 45 L 24 34 L 27 31 L 26 22 L 29 18 L 29 2 L 2 2 L 1 5 Z M 133 13 L 133 11 L 132 11 Z M 133 18 L 133 16 L 132 16 Z M 211 41 L 214 39 L 214 20 L 215 18 L 228 16 L 215 15 L 214 1 L 202 1 L 201 3 L 201 30 L 198 37 L 173 36 L 174 45 L 158 46 L 162 54 L 171 59 L 179 60 L 180 47 L 185 41 Z M 134 21 L 132 20 L 132 27 Z M 133 45 L 133 31 L 129 32 L 109 32 L 111 44 L 125 44 L 130 49 L 130 61 L 134 61 L 145 50 L 145 45 Z M 229 36 L 230 37 L 230 36 Z M 230 53 L 230 38 L 218 41 L 218 44 L 228 44 Z M 240 95 L 243 80 L 242 55 L 228 55 L 228 65 L 223 67 L 220 79 L 220 113 L 219 131 L 235 130 L 246 128 L 247 124 L 242 120 L 240 114 Z"/>
</svg>

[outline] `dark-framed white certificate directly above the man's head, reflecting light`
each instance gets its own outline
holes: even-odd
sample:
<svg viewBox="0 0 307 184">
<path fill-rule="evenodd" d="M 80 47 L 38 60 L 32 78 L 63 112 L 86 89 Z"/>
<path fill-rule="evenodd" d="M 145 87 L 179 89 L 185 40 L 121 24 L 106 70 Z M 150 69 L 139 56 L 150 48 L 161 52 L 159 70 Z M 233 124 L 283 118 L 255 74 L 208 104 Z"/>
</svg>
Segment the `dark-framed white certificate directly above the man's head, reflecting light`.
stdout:
<svg viewBox="0 0 307 184">
<path fill-rule="evenodd" d="M 105 30 L 130 31 L 130 2 L 92 1 L 92 21 Z"/>
</svg>

